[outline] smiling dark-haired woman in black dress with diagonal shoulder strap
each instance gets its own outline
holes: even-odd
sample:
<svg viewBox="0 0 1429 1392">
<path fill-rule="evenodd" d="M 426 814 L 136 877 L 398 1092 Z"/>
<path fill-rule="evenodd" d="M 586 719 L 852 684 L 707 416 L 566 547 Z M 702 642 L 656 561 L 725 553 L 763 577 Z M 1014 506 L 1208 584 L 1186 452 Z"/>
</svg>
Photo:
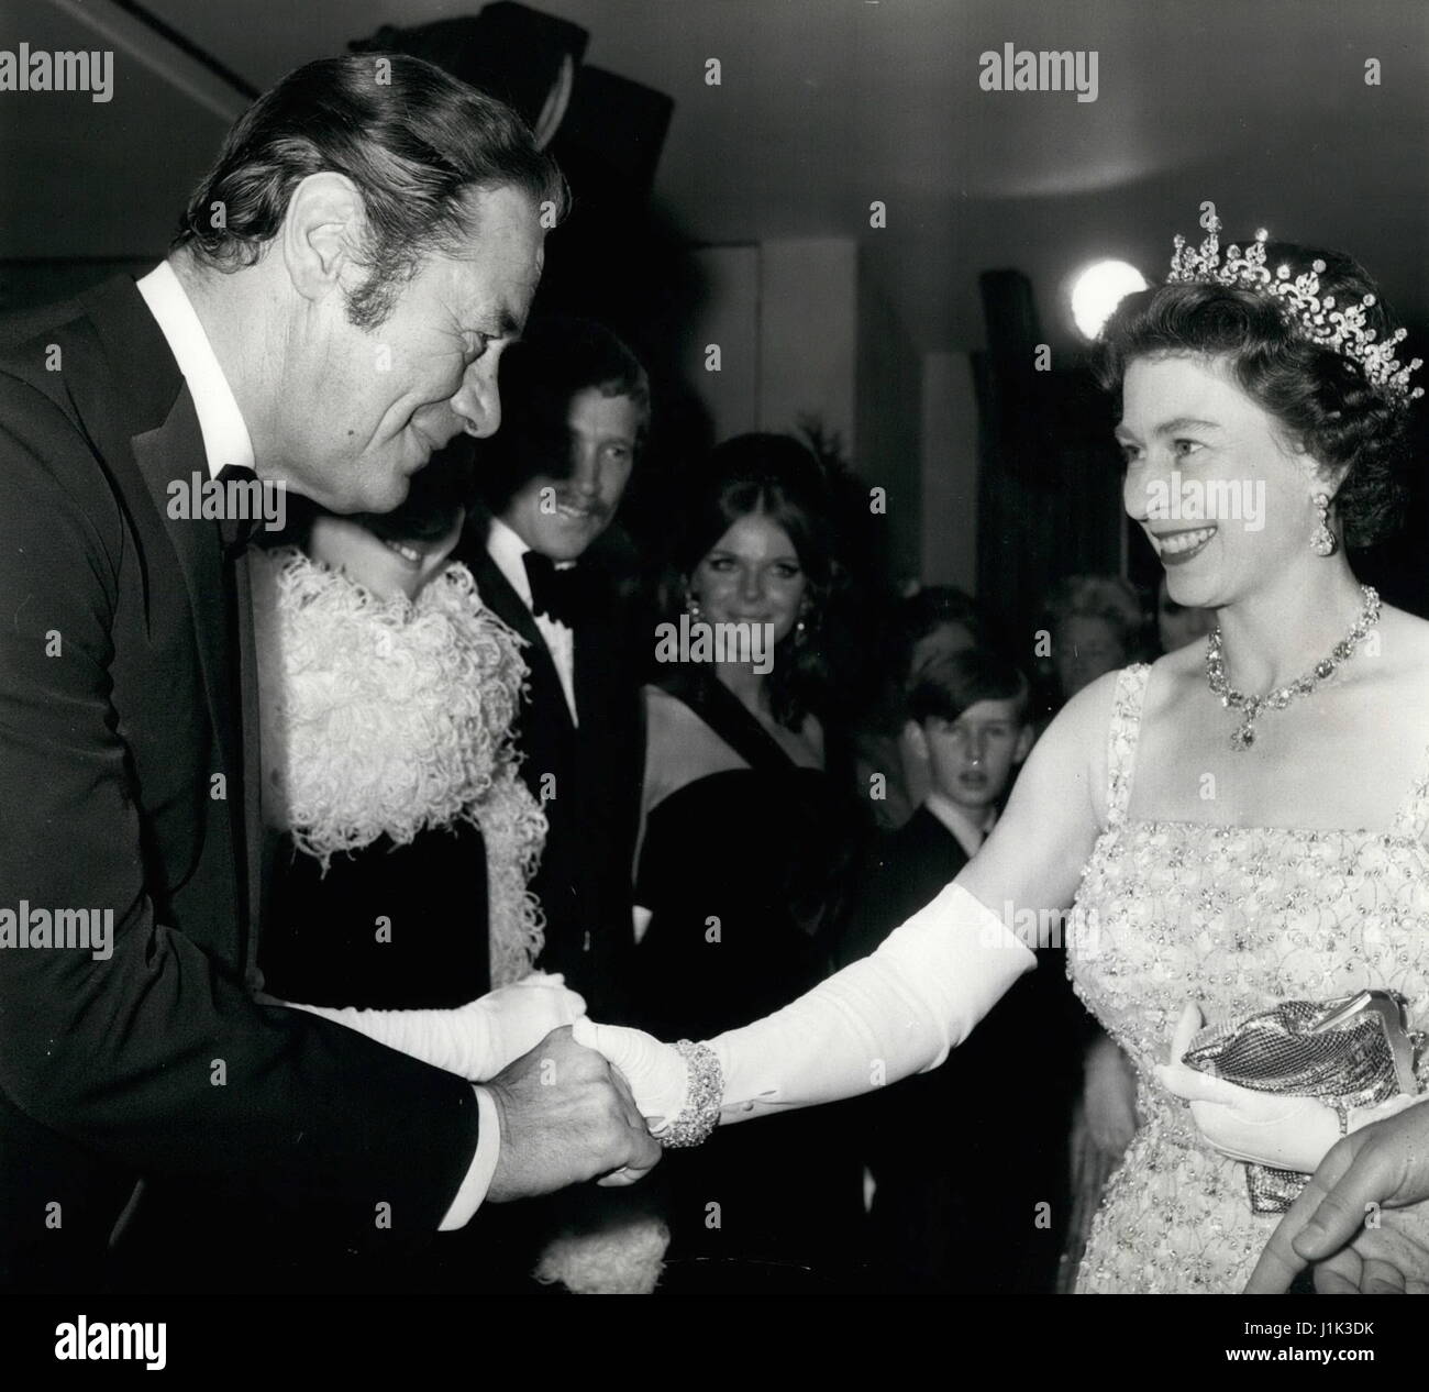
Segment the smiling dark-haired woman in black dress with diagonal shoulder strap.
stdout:
<svg viewBox="0 0 1429 1392">
<path fill-rule="evenodd" d="M 820 627 L 836 622 L 840 583 L 813 456 L 776 434 L 719 446 L 683 510 L 667 617 L 692 635 L 690 655 L 704 625 L 710 642 L 720 626 L 743 625 L 767 646 L 673 663 L 644 692 L 636 1018 L 657 1033 L 746 1025 L 833 969 L 863 830 L 837 772 L 847 753 L 820 722 Z M 787 1118 L 662 1166 L 666 1283 L 843 1279 L 860 1165 L 837 1120 Z"/>
</svg>

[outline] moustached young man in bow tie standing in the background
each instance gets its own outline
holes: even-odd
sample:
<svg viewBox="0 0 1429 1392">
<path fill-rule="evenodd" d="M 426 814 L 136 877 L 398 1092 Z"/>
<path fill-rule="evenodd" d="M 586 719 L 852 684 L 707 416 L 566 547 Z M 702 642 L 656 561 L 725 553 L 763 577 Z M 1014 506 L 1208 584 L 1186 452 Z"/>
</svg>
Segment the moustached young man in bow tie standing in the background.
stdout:
<svg viewBox="0 0 1429 1392">
<path fill-rule="evenodd" d="M 532 886 L 546 913 L 539 965 L 564 973 L 592 1018 L 619 1019 L 634 950 L 642 667 L 612 576 L 589 552 L 643 446 L 650 386 L 609 329 L 547 319 L 503 356 L 500 387 L 504 424 L 477 446 L 486 512 L 457 557 L 527 642 L 517 745 L 549 822 Z"/>
</svg>

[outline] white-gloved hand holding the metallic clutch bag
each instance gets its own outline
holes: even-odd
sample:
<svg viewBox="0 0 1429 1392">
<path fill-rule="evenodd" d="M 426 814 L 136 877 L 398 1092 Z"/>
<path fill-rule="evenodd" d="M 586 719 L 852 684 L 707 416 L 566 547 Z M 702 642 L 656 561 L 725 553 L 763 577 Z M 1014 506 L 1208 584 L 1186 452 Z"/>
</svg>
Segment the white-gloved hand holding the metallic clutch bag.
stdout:
<svg viewBox="0 0 1429 1392">
<path fill-rule="evenodd" d="M 1340 1138 L 1336 1110 L 1319 1098 L 1256 1092 L 1183 1063 L 1202 1025 L 1200 1006 L 1190 1002 L 1176 1025 L 1169 1062 L 1156 1068 L 1162 1085 L 1190 1103 L 1196 1129 L 1222 1155 L 1249 1165 L 1313 1173 Z M 1372 1122 L 1388 1120 L 1419 1100 L 1399 1093 L 1379 1106 L 1350 1108 L 1345 1129 L 1359 1130 Z"/>
</svg>

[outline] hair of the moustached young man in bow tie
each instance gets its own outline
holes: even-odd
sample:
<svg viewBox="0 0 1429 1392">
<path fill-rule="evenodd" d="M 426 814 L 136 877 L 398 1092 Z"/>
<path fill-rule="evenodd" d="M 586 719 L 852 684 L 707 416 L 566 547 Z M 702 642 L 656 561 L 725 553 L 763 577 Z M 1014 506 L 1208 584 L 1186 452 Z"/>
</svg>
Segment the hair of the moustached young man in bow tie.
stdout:
<svg viewBox="0 0 1429 1392">
<path fill-rule="evenodd" d="M 490 512 L 536 477 L 570 472 L 566 419 L 582 392 L 627 396 L 636 406 L 636 457 L 650 427 L 650 379 L 640 359 L 593 319 L 546 316 L 503 353 L 497 369 L 502 429 L 476 446 L 477 486 Z"/>
</svg>

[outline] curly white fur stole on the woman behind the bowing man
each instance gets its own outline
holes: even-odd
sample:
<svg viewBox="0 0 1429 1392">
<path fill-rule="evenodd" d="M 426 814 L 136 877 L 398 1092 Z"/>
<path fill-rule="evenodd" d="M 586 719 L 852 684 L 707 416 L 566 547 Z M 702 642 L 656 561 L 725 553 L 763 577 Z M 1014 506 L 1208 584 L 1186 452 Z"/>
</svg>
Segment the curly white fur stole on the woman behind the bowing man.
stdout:
<svg viewBox="0 0 1429 1392">
<path fill-rule="evenodd" d="M 546 816 L 516 772 L 522 639 L 460 565 L 416 602 L 384 602 L 299 550 L 253 559 L 264 817 L 324 870 L 383 833 L 407 845 L 474 823 L 492 986 L 519 980 L 543 945 L 526 886 L 546 843 Z"/>
</svg>

